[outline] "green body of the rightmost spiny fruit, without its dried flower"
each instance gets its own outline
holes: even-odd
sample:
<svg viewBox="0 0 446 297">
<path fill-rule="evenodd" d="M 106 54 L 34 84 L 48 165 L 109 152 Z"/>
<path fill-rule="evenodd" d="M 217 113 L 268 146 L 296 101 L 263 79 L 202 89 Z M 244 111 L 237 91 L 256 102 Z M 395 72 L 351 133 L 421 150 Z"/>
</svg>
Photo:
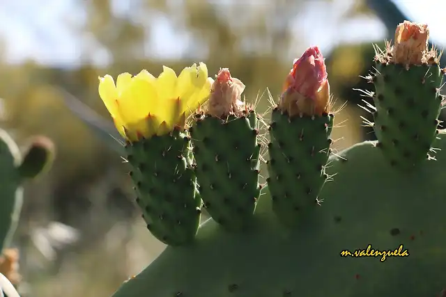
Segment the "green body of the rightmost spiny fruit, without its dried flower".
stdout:
<svg viewBox="0 0 446 297">
<path fill-rule="evenodd" d="M 374 130 L 383 154 L 400 169 L 428 158 L 443 97 L 440 66 L 376 63 Z M 432 153 L 432 152 L 431 152 Z"/>
</svg>

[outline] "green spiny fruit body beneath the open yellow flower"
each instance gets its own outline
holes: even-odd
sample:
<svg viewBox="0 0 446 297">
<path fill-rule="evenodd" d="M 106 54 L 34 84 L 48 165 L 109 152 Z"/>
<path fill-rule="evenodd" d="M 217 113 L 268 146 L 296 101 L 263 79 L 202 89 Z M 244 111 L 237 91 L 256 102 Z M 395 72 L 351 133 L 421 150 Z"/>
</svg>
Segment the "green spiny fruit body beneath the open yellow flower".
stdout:
<svg viewBox="0 0 446 297">
<path fill-rule="evenodd" d="M 191 168 L 192 148 L 186 132 L 174 130 L 125 146 L 130 176 L 148 230 L 171 246 L 190 243 L 197 233 L 201 198 Z"/>
</svg>

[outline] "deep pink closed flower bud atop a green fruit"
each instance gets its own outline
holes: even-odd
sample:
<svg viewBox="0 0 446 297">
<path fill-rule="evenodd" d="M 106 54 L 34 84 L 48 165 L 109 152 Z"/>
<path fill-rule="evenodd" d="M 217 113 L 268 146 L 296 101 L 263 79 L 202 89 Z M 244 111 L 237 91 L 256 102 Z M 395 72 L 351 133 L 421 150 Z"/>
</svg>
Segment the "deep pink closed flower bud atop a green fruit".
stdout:
<svg viewBox="0 0 446 297">
<path fill-rule="evenodd" d="M 279 103 L 282 112 L 321 115 L 330 109 L 330 85 L 327 68 L 318 47 L 309 47 L 294 61 L 284 83 Z"/>
</svg>

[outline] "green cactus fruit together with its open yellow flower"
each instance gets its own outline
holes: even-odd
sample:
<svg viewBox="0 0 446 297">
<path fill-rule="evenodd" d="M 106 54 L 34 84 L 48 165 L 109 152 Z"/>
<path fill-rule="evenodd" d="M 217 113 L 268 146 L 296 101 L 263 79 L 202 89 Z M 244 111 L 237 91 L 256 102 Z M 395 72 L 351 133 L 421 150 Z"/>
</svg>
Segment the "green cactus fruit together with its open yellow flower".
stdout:
<svg viewBox="0 0 446 297">
<path fill-rule="evenodd" d="M 208 99 L 212 82 L 203 63 L 178 77 L 164 67 L 157 79 L 146 70 L 120 74 L 116 85 L 109 75 L 100 78 L 100 97 L 127 141 L 136 202 L 148 230 L 171 246 L 194 241 L 199 227 L 201 197 L 185 125 Z"/>
</svg>

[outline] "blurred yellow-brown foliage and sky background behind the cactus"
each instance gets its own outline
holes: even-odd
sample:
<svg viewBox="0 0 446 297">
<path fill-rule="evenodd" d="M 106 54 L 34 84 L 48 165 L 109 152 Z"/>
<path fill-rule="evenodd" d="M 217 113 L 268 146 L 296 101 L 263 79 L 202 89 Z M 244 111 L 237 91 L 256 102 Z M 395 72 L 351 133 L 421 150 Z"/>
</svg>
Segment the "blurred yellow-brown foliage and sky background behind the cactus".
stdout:
<svg viewBox="0 0 446 297">
<path fill-rule="evenodd" d="M 134 206 L 98 76 L 162 65 L 178 73 L 204 61 L 210 75 L 229 67 L 247 101 L 267 88 L 275 99 L 309 46 L 326 58 L 337 128 L 336 150 L 374 139 L 362 119 L 360 76 L 372 43 L 392 39 L 399 22 L 426 22 L 446 42 L 441 0 L 1 0 L 0 127 L 23 144 L 43 134 L 57 148 L 54 167 L 26 184 L 14 244 L 22 296 L 110 296 L 164 246 Z M 445 63 L 443 63 L 445 65 Z"/>
</svg>

